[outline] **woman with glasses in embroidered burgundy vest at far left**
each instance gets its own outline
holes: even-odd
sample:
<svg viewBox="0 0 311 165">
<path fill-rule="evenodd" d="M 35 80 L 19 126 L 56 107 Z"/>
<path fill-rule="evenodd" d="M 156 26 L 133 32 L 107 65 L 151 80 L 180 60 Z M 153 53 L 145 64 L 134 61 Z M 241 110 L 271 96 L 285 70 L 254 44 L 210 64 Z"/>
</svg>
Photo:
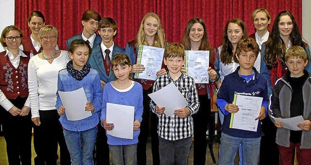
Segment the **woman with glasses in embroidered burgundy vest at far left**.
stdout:
<svg viewBox="0 0 311 165">
<path fill-rule="evenodd" d="M 31 165 L 32 123 L 27 67 L 30 53 L 18 48 L 23 34 L 16 26 L 4 28 L 0 42 L 0 116 L 10 165 Z"/>
</svg>

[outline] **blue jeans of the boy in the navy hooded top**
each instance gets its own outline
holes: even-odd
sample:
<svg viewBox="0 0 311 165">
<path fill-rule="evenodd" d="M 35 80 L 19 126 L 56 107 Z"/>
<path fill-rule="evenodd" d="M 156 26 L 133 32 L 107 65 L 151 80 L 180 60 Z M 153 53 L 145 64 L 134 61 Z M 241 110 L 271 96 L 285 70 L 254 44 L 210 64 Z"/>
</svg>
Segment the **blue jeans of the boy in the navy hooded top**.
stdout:
<svg viewBox="0 0 311 165">
<path fill-rule="evenodd" d="M 222 133 L 218 165 L 232 165 L 240 143 L 242 144 L 243 165 L 258 165 L 260 139 L 261 137 L 241 138 Z"/>
</svg>

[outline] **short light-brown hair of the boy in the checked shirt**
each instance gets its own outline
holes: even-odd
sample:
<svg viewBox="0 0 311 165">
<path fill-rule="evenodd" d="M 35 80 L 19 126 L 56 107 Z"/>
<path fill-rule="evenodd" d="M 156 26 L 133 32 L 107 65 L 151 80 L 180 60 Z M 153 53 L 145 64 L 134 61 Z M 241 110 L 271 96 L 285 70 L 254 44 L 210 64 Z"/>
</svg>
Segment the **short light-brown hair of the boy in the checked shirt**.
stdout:
<svg viewBox="0 0 311 165">
<path fill-rule="evenodd" d="M 183 45 L 178 43 L 172 43 L 165 48 L 164 50 L 165 59 L 175 57 L 185 59 L 185 49 Z"/>
</svg>

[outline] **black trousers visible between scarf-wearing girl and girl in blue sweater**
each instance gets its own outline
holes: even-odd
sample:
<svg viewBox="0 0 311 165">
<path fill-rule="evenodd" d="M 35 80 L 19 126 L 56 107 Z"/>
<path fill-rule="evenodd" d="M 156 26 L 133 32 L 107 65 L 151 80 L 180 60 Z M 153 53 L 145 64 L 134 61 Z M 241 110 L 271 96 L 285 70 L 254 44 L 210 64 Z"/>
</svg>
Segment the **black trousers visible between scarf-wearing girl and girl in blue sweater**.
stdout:
<svg viewBox="0 0 311 165">
<path fill-rule="evenodd" d="M 110 165 L 109 158 L 109 145 L 107 144 L 107 135 L 100 121 L 97 126 L 94 160 L 96 162 L 96 165 Z"/>
</svg>

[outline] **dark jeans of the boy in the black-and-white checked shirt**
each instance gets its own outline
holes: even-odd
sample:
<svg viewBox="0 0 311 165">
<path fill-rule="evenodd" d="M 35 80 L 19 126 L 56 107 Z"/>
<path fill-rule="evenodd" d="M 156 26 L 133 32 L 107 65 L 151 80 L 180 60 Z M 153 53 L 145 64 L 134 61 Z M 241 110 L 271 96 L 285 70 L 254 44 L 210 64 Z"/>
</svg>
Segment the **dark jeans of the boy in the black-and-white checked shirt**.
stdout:
<svg viewBox="0 0 311 165">
<path fill-rule="evenodd" d="M 166 140 L 159 137 L 160 165 L 188 165 L 191 137 Z"/>
</svg>

